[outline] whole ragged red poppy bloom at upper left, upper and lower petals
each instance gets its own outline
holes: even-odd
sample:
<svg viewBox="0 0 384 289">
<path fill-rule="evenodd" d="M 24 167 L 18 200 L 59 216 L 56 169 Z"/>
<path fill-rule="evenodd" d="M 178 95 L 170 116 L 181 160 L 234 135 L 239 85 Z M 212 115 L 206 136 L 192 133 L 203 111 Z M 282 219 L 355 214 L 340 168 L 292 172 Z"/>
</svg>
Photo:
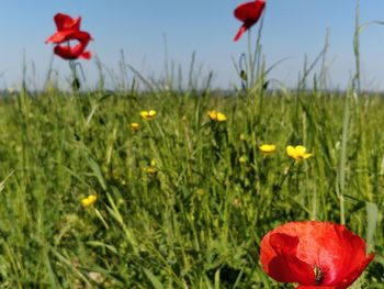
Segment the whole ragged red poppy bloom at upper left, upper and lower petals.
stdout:
<svg viewBox="0 0 384 289">
<path fill-rule="evenodd" d="M 54 53 L 64 59 L 84 58 L 90 59 L 91 53 L 86 51 L 92 36 L 84 31 L 80 31 L 81 18 L 72 19 L 69 15 L 57 13 L 54 18 L 57 31 L 45 42 L 56 44 Z M 78 42 L 75 46 L 71 41 Z"/>
</svg>

